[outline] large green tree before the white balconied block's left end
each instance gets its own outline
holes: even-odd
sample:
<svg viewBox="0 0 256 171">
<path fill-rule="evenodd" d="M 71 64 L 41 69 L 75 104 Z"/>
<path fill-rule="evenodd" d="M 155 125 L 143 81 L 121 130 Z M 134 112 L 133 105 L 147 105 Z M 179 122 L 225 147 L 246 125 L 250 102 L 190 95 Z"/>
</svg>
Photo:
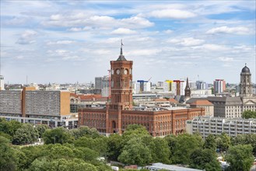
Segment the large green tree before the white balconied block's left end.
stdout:
<svg viewBox="0 0 256 171">
<path fill-rule="evenodd" d="M 171 156 L 171 162 L 179 164 L 189 164 L 190 155 L 196 148 L 202 148 L 203 141 L 198 135 L 179 134 L 177 143 L 174 146 L 174 152 Z"/>
</svg>

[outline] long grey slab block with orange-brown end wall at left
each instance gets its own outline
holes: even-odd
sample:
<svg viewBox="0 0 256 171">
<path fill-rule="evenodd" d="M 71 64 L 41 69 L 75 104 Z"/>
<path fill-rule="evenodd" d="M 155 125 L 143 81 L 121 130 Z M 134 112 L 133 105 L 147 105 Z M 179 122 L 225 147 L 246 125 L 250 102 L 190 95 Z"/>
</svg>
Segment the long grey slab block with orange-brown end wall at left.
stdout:
<svg viewBox="0 0 256 171">
<path fill-rule="evenodd" d="M 40 91 L 34 87 L 0 91 L 0 117 L 22 123 L 61 126 L 70 114 L 67 91 Z"/>
</svg>

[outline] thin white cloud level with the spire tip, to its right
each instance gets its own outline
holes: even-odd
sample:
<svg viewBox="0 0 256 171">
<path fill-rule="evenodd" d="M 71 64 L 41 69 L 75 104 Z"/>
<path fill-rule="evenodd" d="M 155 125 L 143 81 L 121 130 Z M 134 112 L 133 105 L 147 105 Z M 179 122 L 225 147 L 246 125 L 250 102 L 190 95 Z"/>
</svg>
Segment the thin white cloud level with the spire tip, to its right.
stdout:
<svg viewBox="0 0 256 171">
<path fill-rule="evenodd" d="M 193 46 L 198 46 L 200 44 L 203 44 L 205 40 L 194 39 L 193 37 L 187 37 L 183 39 L 171 39 L 171 40 L 167 40 L 167 42 L 171 44 L 180 44 L 184 47 L 193 47 Z"/>
</svg>

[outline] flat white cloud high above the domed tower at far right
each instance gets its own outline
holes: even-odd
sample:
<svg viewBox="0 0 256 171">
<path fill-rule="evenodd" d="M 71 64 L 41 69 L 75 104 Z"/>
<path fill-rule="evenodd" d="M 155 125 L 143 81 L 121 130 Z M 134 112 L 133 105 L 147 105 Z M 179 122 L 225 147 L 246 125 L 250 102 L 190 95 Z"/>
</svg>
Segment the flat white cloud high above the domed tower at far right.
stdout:
<svg viewBox="0 0 256 171">
<path fill-rule="evenodd" d="M 220 26 L 220 27 L 212 28 L 211 30 L 208 30 L 206 33 L 250 34 L 251 32 L 247 27 L 244 27 L 244 26 L 237 26 L 237 27 Z"/>
</svg>

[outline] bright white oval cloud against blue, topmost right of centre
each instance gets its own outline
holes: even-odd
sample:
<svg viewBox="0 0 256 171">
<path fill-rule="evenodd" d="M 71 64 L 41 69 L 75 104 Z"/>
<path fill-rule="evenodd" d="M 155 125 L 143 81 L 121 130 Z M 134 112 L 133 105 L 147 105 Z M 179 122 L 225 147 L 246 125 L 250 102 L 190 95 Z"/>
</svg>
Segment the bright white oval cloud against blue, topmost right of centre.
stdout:
<svg viewBox="0 0 256 171">
<path fill-rule="evenodd" d="M 147 16 L 169 19 L 188 19 L 197 16 L 194 12 L 181 9 L 162 9 L 150 12 Z"/>
</svg>

